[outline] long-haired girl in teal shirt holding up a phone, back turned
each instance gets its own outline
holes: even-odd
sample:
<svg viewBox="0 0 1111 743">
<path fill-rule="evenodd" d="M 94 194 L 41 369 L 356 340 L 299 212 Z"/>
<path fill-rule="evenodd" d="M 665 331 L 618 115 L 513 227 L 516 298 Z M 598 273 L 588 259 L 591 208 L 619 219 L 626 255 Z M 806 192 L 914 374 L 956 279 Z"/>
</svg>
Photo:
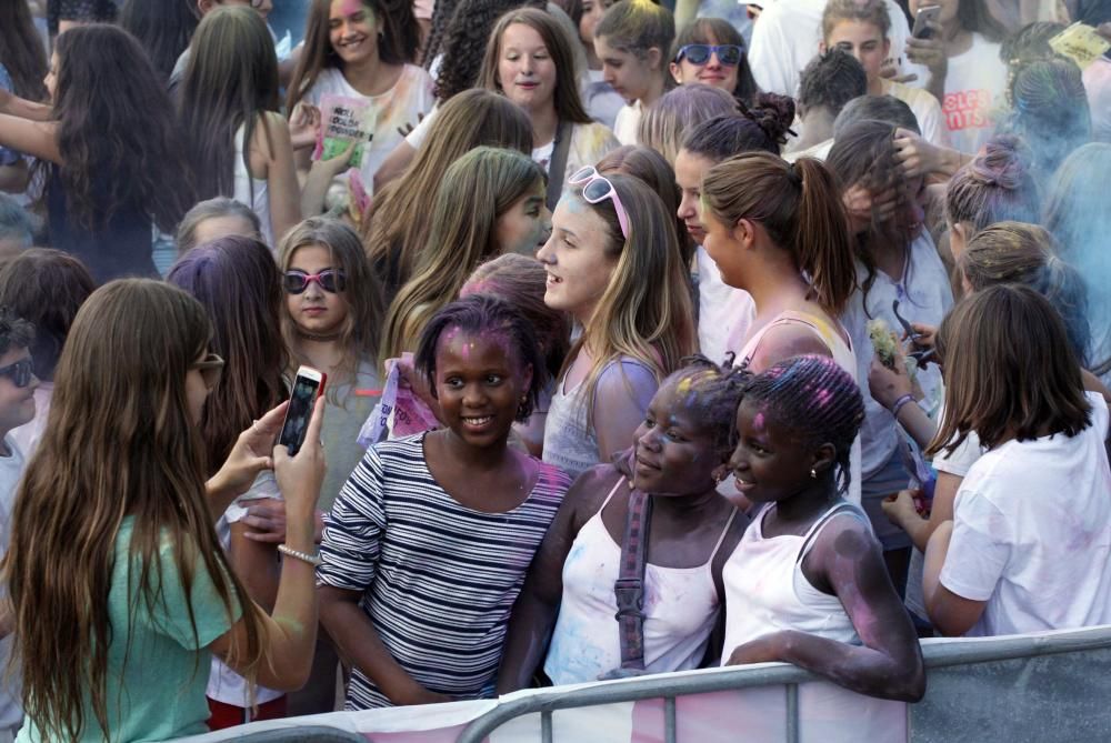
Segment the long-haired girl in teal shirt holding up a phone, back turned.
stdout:
<svg viewBox="0 0 1111 743">
<path fill-rule="evenodd" d="M 256 412 L 227 459 L 210 464 L 202 411 L 212 380 L 200 363 L 211 341 L 200 302 L 149 280 L 100 289 L 73 321 L 3 565 L 23 675 L 19 740 L 203 733 L 212 655 L 249 683 L 304 683 L 316 641 L 323 409 L 296 458 L 272 449 L 279 405 Z M 249 598 L 210 521 L 271 466 L 288 524 L 272 616 Z"/>
</svg>

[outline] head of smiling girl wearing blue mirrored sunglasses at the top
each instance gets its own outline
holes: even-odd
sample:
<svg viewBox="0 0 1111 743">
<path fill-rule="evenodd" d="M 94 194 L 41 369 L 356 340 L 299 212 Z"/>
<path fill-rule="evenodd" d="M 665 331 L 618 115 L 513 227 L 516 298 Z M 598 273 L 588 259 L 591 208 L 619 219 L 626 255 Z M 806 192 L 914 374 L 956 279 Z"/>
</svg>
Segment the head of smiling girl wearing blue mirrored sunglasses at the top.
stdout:
<svg viewBox="0 0 1111 743">
<path fill-rule="evenodd" d="M 745 103 L 760 92 L 744 53 L 744 38 L 721 18 L 700 18 L 684 26 L 671 46 L 671 77 L 681 86 L 720 88 Z"/>
</svg>

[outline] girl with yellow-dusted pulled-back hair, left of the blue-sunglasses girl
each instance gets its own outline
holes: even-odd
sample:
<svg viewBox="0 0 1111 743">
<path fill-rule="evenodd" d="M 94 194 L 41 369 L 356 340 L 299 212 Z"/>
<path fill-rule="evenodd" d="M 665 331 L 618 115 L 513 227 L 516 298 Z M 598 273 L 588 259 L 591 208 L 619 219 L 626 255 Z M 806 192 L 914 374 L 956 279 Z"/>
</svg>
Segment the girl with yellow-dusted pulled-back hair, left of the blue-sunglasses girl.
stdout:
<svg viewBox="0 0 1111 743">
<path fill-rule="evenodd" d="M 664 60 L 674 38 L 671 12 L 647 0 L 621 0 L 594 29 L 602 77 L 627 101 L 613 124 L 622 144 L 639 143 L 637 129 L 644 109 L 671 87 Z"/>
</svg>

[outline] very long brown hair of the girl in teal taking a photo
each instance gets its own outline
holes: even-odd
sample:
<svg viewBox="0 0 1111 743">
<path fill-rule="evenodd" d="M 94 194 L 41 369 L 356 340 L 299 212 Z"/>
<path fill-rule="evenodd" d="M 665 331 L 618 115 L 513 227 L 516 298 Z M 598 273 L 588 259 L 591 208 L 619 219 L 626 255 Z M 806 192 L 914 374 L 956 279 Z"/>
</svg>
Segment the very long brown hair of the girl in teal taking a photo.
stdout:
<svg viewBox="0 0 1111 743">
<path fill-rule="evenodd" d="M 232 654 L 237 667 L 248 667 L 249 680 L 256 675 L 264 630 L 254 604 L 237 599 L 248 594 L 213 530 L 204 445 L 186 394 L 187 370 L 209 334 L 197 300 L 146 279 L 113 281 L 93 292 L 70 329 L 50 418 L 16 498 L 3 562 L 23 710 L 46 740 L 74 740 L 93 724 L 110 737 L 110 649 L 131 642 L 109 618 L 116 541 L 128 516 L 134 524 L 127 580 L 146 610 L 162 601 L 163 574 L 177 573 L 188 596 L 198 573 L 208 573 L 229 623 L 242 605 L 247 646 Z M 196 635 L 198 618 L 191 604 L 187 610 Z M 208 673 L 201 657 L 198 652 L 197 672 Z M 84 707 L 87 695 L 91 710 Z"/>
</svg>

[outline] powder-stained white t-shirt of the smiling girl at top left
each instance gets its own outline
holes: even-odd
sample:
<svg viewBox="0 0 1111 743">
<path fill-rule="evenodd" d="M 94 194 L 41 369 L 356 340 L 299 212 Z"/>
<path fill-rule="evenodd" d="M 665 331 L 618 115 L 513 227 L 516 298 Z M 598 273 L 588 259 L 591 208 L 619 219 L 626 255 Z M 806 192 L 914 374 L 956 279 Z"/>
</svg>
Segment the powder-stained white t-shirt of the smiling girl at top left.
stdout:
<svg viewBox="0 0 1111 743">
<path fill-rule="evenodd" d="M 320 106 L 320 99 L 324 94 L 368 99 L 374 103 L 378 111 L 374 138 L 363 150 L 362 165 L 359 168 L 363 185 L 370 191 L 373 189 L 374 173 L 393 148 L 404 139 L 398 129 L 416 124 L 418 113 L 428 113 L 436 106 L 434 86 L 423 68 L 406 64 L 401 77 L 390 90 L 380 96 L 363 96 L 351 87 L 339 69 L 330 67 L 320 73 L 304 99 L 312 106 Z"/>
</svg>

